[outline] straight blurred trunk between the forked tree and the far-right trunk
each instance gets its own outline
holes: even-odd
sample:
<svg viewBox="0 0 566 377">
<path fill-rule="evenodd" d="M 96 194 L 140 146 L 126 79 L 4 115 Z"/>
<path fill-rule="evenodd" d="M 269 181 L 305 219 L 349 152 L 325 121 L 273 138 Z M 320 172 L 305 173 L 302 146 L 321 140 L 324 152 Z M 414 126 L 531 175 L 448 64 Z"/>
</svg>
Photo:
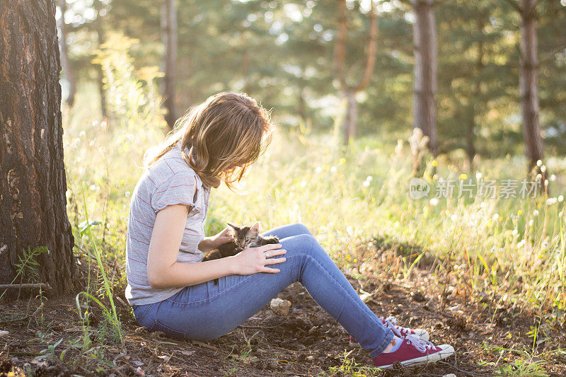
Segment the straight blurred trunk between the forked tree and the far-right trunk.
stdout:
<svg viewBox="0 0 566 377">
<path fill-rule="evenodd" d="M 429 150 L 437 154 L 437 31 L 434 2 L 414 0 L 415 79 L 412 95 L 413 126 L 429 137 Z"/>
</svg>

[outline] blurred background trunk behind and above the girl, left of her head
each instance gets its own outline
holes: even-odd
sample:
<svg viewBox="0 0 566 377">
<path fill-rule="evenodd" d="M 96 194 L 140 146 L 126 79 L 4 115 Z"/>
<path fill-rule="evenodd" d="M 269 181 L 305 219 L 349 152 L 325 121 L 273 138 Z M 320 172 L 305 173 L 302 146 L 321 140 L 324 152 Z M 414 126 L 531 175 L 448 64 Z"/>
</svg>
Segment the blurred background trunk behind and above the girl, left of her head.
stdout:
<svg viewBox="0 0 566 377">
<path fill-rule="evenodd" d="M 164 0 L 161 4 L 161 40 L 165 46 L 163 53 L 163 105 L 168 110 L 165 117 L 171 129 L 177 120 L 175 109 L 175 81 L 177 66 L 177 0 Z"/>
</svg>

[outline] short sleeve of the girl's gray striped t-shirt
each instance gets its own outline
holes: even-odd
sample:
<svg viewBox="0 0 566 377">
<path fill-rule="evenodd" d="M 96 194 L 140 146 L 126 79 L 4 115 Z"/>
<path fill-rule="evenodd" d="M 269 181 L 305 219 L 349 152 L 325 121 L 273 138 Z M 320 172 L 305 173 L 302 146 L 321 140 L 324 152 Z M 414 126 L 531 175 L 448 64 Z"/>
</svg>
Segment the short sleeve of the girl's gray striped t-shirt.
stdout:
<svg viewBox="0 0 566 377">
<path fill-rule="evenodd" d="M 154 195 L 151 196 L 151 207 L 156 213 L 175 204 L 195 207 L 196 188 L 194 175 L 175 174 L 155 188 Z"/>
</svg>

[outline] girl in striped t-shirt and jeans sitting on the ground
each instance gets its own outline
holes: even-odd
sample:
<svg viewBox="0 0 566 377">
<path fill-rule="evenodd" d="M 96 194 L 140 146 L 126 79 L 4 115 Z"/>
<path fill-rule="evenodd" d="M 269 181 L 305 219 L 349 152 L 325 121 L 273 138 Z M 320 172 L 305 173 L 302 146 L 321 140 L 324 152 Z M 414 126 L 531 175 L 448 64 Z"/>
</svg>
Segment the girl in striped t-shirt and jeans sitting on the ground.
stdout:
<svg viewBox="0 0 566 377">
<path fill-rule="evenodd" d="M 271 132 L 270 113 L 255 100 L 222 92 L 187 112 L 165 144 L 146 154 L 126 248 L 126 297 L 139 325 L 180 339 L 212 340 L 300 282 L 369 351 L 375 366 L 454 354 L 447 344 L 428 342 L 424 330 L 419 337 L 378 318 L 302 224 L 262 233 L 278 236 L 275 245 L 202 262 L 203 253 L 230 239 L 228 228 L 204 236 L 211 188 L 221 182 L 232 188 L 241 180 L 270 144 Z"/>
</svg>

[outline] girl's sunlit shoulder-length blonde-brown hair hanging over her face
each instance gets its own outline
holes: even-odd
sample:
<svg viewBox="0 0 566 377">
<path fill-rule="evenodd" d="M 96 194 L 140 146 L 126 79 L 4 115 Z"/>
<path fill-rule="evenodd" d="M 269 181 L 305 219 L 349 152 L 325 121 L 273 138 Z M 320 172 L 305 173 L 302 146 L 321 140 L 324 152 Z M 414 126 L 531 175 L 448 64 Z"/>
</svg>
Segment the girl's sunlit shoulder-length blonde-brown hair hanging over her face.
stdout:
<svg viewBox="0 0 566 377">
<path fill-rule="evenodd" d="M 270 111 L 246 93 L 211 95 L 175 122 L 163 144 L 146 152 L 144 164 L 151 166 L 180 143 L 183 159 L 204 185 L 219 187 L 224 182 L 233 190 L 233 183 L 270 144 L 270 121 Z"/>
</svg>

